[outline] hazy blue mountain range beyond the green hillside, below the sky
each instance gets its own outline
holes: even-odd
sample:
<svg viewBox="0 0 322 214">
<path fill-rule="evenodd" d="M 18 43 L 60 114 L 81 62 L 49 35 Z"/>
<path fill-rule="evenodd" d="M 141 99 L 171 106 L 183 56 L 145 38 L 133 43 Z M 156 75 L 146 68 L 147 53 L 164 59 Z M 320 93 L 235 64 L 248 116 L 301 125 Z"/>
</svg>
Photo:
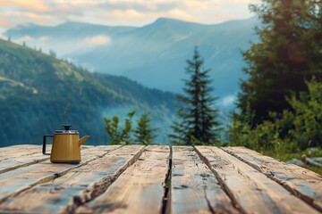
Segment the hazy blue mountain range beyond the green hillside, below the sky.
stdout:
<svg viewBox="0 0 322 214">
<path fill-rule="evenodd" d="M 258 20 L 227 21 L 220 24 L 159 18 L 143 27 L 110 27 L 65 22 L 54 27 L 28 24 L 7 30 L 15 41 L 54 50 L 89 70 L 125 76 L 140 84 L 174 93 L 182 92 L 184 68 L 195 46 L 211 69 L 220 108 L 232 108 L 239 91 L 245 62 L 242 51 L 256 42 Z"/>
</svg>

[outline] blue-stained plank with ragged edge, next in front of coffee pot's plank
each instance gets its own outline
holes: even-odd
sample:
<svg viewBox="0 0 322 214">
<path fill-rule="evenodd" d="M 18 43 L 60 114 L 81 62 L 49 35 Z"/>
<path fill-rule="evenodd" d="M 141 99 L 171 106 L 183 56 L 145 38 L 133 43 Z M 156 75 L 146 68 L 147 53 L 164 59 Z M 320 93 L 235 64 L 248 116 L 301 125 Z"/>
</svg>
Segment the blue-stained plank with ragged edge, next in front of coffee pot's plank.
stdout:
<svg viewBox="0 0 322 214">
<path fill-rule="evenodd" d="M 144 146 L 129 145 L 107 153 L 52 182 L 36 185 L 0 203 L 0 212 L 71 213 L 103 193 L 116 177 L 137 161 Z"/>
</svg>

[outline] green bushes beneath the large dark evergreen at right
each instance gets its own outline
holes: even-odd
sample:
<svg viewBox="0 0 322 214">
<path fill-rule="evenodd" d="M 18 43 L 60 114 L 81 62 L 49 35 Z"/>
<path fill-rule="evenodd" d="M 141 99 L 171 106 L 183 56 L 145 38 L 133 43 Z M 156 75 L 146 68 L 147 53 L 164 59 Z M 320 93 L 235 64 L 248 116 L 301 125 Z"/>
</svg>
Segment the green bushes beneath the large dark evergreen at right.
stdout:
<svg viewBox="0 0 322 214">
<path fill-rule="evenodd" d="M 299 152 L 311 146 L 322 147 L 322 83 L 313 78 L 306 82 L 309 92 L 293 93 L 287 98 L 292 110 L 270 112 L 269 119 L 255 128 L 235 119 L 228 129 L 233 145 L 259 152 Z"/>
</svg>

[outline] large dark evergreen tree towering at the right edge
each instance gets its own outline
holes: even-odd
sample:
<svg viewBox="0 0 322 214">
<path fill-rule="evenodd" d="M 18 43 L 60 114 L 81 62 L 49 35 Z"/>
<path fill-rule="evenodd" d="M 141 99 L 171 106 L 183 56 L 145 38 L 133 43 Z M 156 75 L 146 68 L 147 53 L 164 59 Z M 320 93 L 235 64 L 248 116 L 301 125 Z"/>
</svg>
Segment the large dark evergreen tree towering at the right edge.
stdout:
<svg viewBox="0 0 322 214">
<path fill-rule="evenodd" d="M 268 119 L 269 111 L 291 110 L 285 97 L 307 91 L 305 80 L 322 80 L 322 2 L 262 0 L 250 5 L 262 21 L 260 41 L 243 53 L 249 79 L 242 82 L 238 107 L 254 113 L 252 124 Z"/>
</svg>

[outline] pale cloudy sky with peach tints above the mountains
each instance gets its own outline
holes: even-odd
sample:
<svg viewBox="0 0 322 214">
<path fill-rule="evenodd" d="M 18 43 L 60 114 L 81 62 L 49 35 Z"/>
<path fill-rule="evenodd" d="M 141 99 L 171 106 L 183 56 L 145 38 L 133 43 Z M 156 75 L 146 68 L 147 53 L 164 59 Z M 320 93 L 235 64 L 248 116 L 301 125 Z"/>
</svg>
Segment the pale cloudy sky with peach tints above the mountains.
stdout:
<svg viewBox="0 0 322 214">
<path fill-rule="evenodd" d="M 256 0 L 0 0 L 0 32 L 29 22 L 143 26 L 159 17 L 215 24 L 253 16 Z"/>
</svg>

